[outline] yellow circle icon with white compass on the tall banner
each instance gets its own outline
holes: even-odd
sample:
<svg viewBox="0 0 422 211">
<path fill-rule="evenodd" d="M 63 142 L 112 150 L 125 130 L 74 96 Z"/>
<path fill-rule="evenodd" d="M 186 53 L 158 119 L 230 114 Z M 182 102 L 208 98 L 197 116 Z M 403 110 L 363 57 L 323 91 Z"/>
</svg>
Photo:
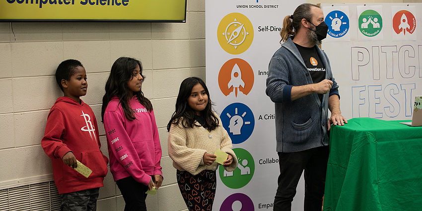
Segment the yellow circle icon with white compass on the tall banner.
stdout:
<svg viewBox="0 0 422 211">
<path fill-rule="evenodd" d="M 254 28 L 245 15 L 233 12 L 224 16 L 218 24 L 217 39 L 227 53 L 241 54 L 251 46 Z"/>
</svg>

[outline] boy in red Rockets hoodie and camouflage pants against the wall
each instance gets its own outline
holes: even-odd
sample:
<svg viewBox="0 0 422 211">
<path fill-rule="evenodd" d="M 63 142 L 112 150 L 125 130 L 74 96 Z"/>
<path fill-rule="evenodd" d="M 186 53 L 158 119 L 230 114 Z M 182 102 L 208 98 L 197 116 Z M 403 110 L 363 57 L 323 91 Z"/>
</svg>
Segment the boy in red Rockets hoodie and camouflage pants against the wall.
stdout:
<svg viewBox="0 0 422 211">
<path fill-rule="evenodd" d="M 56 80 L 65 96 L 56 100 L 48 114 L 41 146 L 53 160 L 61 210 L 95 211 L 108 159 L 100 151 L 94 113 L 79 99 L 88 87 L 86 72 L 79 61 L 66 60 L 57 68 Z M 88 178 L 73 169 L 76 160 L 92 170 Z"/>
</svg>

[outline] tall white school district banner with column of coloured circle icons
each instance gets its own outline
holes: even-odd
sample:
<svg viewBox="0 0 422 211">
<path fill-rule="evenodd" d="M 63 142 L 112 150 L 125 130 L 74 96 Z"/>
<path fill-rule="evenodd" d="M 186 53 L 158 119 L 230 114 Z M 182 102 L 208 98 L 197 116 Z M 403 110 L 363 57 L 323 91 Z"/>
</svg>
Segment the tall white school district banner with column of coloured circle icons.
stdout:
<svg viewBox="0 0 422 211">
<path fill-rule="evenodd" d="M 207 0 L 206 76 L 213 107 L 239 164 L 217 169 L 213 211 L 273 210 L 280 174 L 268 64 L 280 48 L 284 16 L 305 1 Z M 293 211 L 303 210 L 303 181 Z"/>
</svg>

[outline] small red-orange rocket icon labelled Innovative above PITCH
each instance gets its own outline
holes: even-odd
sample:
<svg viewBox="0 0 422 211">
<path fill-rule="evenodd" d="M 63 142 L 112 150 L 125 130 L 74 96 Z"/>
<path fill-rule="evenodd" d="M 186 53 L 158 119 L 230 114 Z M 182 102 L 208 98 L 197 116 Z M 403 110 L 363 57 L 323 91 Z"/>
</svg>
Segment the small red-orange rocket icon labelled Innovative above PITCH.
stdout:
<svg viewBox="0 0 422 211">
<path fill-rule="evenodd" d="M 398 11 L 393 17 L 393 29 L 403 36 L 413 34 L 416 29 L 416 18 L 407 10 Z"/>
</svg>

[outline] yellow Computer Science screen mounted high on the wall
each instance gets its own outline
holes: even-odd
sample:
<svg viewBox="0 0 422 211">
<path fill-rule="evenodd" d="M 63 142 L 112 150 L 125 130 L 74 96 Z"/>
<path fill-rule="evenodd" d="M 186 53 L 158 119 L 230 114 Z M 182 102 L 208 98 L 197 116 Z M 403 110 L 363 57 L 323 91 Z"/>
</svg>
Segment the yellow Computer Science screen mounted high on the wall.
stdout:
<svg viewBox="0 0 422 211">
<path fill-rule="evenodd" d="M 185 22 L 186 0 L 0 0 L 0 21 Z"/>
</svg>

